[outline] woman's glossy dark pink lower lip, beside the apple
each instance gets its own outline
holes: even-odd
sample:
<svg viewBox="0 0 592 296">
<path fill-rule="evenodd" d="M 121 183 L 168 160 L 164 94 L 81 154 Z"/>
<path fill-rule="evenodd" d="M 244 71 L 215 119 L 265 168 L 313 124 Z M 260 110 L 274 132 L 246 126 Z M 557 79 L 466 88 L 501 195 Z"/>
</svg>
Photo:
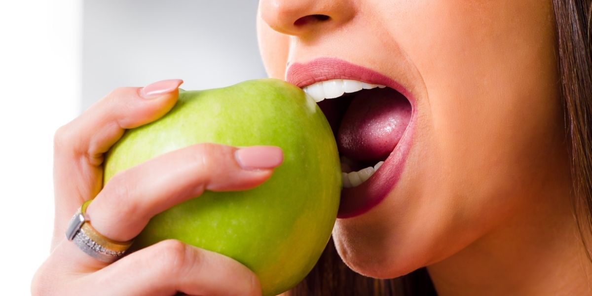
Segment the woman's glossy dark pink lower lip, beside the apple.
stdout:
<svg viewBox="0 0 592 296">
<path fill-rule="evenodd" d="M 407 98 L 409 97 L 407 96 Z M 380 169 L 366 182 L 352 188 L 342 189 L 337 218 L 352 218 L 366 213 L 384 200 L 392 188 L 397 185 L 411 147 L 416 121 L 414 100 L 410 100 L 410 102 L 411 119 L 403 137 Z"/>
</svg>

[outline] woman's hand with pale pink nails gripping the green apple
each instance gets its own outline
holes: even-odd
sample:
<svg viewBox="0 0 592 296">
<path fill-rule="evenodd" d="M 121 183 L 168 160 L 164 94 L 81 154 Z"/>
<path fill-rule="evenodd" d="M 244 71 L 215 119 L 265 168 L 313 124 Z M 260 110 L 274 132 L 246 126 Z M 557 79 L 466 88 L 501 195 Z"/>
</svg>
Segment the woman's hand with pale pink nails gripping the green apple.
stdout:
<svg viewBox="0 0 592 296">
<path fill-rule="evenodd" d="M 166 114 L 175 105 L 181 83 L 169 80 L 116 89 L 59 128 L 54 139 L 52 252 L 33 278 L 33 295 L 260 294 L 256 275 L 236 260 L 176 240 L 108 264 L 86 255 L 65 237 L 70 218 L 91 198 L 86 214 L 92 226 L 123 242 L 137 236 L 154 215 L 206 189 L 233 191 L 262 184 L 282 162 L 278 147 L 238 150 L 197 144 L 118 173 L 102 188 L 104 153 L 126 128 Z"/>
</svg>

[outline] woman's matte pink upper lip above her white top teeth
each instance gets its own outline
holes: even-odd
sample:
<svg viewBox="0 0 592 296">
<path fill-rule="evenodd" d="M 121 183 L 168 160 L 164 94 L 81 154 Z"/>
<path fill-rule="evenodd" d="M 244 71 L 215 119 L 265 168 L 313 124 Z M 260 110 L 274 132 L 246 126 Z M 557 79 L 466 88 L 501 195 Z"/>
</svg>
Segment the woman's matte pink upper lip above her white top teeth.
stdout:
<svg viewBox="0 0 592 296">
<path fill-rule="evenodd" d="M 305 63 L 292 63 L 286 72 L 286 81 L 300 88 L 330 79 L 352 79 L 366 83 L 386 85 L 410 100 L 412 96 L 401 83 L 368 67 L 355 65 L 336 57 L 319 57 Z"/>
</svg>

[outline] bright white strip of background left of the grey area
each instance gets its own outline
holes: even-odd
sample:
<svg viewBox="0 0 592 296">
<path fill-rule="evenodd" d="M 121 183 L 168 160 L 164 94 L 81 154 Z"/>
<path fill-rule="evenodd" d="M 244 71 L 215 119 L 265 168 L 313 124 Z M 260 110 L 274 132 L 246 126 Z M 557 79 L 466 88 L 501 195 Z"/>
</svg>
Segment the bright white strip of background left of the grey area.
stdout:
<svg viewBox="0 0 592 296">
<path fill-rule="evenodd" d="M 81 2 L 0 2 L 0 276 L 30 294 L 53 229 L 52 139 L 81 102 Z"/>
</svg>

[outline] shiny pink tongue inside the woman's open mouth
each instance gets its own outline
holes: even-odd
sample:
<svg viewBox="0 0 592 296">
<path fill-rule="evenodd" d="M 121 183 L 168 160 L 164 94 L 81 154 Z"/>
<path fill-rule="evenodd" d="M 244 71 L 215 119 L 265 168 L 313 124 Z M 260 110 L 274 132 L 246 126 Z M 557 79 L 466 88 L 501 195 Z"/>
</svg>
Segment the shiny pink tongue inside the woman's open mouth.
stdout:
<svg viewBox="0 0 592 296">
<path fill-rule="evenodd" d="M 359 162 L 385 160 L 399 143 L 410 118 L 409 101 L 394 89 L 362 91 L 349 105 L 339 127 L 339 152 Z"/>
</svg>

